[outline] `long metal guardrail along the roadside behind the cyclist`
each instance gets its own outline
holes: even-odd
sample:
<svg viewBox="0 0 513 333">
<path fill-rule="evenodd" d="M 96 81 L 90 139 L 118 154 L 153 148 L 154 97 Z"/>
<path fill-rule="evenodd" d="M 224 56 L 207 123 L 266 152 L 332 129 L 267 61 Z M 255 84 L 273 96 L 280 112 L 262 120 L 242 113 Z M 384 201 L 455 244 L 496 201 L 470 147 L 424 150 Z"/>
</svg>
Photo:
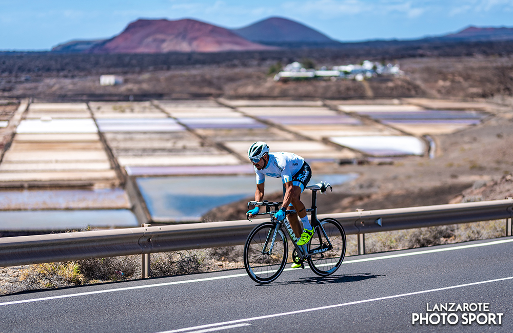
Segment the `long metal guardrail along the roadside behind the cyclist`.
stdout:
<svg viewBox="0 0 513 333">
<path fill-rule="evenodd" d="M 498 219 L 507 219 L 506 236 L 511 236 L 513 199 L 322 214 L 318 217 L 337 219 L 346 234 L 358 234 L 361 242 L 367 233 Z M 252 228 L 263 221 L 265 219 L 145 225 L 120 230 L 0 238 L 0 267 L 142 254 L 143 277 L 146 277 L 150 253 L 241 245 Z"/>
</svg>

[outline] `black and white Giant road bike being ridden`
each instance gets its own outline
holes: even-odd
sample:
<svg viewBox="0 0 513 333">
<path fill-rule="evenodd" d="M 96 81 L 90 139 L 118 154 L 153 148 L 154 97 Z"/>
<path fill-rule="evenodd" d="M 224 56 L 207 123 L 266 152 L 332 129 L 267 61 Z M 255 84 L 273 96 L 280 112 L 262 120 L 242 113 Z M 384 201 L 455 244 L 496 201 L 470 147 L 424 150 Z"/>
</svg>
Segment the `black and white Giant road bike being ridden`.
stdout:
<svg viewBox="0 0 513 333">
<path fill-rule="evenodd" d="M 346 254 L 346 234 L 344 228 L 336 219 L 317 218 L 317 192 L 326 193 L 331 190 L 328 183 L 318 183 L 307 186 L 312 191 L 312 206 L 307 209 L 311 212 L 310 223 L 314 227 L 314 235 L 310 242 L 298 245 L 297 237 L 287 219 L 278 221 L 273 215 L 282 202 L 250 201 L 251 205 L 265 206 L 266 212 L 257 215 L 269 215 L 269 222 L 261 223 L 253 228 L 244 245 L 244 267 L 249 277 L 258 283 L 269 283 L 277 279 L 283 272 L 288 259 L 288 241 L 291 240 L 294 250 L 292 261 L 301 264 L 306 260 L 313 273 L 328 276 L 336 272 L 342 264 Z M 287 210 L 286 214 L 293 214 L 295 210 Z M 248 218 L 249 219 L 249 218 Z"/>
</svg>

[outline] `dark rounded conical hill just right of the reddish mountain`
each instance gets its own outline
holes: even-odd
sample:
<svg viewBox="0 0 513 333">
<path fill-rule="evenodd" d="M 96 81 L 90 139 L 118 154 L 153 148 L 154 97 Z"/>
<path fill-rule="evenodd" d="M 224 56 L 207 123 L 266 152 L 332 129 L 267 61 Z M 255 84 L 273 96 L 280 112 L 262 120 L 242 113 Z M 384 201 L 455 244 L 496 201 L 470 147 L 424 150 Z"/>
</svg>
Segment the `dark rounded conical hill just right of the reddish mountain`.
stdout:
<svg viewBox="0 0 513 333">
<path fill-rule="evenodd" d="M 337 46 L 339 41 L 283 17 L 270 17 L 231 31 L 255 43 L 282 47 Z"/>
</svg>

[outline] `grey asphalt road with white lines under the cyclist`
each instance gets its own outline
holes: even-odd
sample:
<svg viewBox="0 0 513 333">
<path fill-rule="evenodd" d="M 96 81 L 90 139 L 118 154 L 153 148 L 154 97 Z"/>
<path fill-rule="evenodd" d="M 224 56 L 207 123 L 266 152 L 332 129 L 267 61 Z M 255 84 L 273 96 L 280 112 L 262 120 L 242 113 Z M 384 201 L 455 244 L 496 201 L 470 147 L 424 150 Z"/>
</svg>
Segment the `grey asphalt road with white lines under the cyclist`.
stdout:
<svg viewBox="0 0 513 333">
<path fill-rule="evenodd" d="M 0 331 L 508 332 L 512 253 L 507 237 L 348 257 L 326 278 L 288 269 L 268 285 L 230 270 L 9 295 Z"/>
</svg>

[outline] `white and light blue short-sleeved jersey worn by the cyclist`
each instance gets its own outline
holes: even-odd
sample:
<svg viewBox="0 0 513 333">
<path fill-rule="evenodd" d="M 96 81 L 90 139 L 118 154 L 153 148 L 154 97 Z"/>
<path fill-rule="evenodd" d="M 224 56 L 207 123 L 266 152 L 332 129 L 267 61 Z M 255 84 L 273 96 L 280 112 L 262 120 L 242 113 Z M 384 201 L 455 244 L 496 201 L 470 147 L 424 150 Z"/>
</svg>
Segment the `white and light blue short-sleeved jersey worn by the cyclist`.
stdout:
<svg viewBox="0 0 513 333">
<path fill-rule="evenodd" d="M 305 159 L 294 153 L 277 152 L 269 153 L 269 161 L 262 170 L 257 170 L 257 184 L 261 184 L 265 180 L 265 176 L 280 178 L 282 182 L 286 183 L 292 181 L 292 176 L 295 175 L 303 166 Z"/>
</svg>

